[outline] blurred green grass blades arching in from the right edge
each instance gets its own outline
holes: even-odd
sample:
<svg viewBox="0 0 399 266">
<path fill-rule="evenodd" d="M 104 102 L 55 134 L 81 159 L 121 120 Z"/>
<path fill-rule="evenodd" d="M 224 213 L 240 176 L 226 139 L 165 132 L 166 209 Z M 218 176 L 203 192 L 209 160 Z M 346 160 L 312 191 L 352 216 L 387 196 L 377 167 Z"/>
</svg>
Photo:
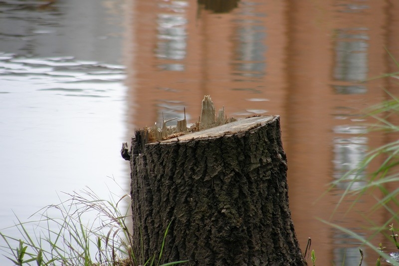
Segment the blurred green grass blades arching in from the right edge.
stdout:
<svg viewBox="0 0 399 266">
<path fill-rule="evenodd" d="M 399 63 L 394 58 L 393 60 L 399 67 Z M 384 77 L 384 78 L 398 79 L 399 78 L 398 74 L 399 72 L 385 74 L 380 78 Z M 386 93 L 390 97 L 388 100 L 385 100 L 380 104 L 374 105 L 366 109 L 366 117 L 374 118 L 375 121 L 374 123 L 367 124 L 366 126 L 368 128 L 368 132 L 383 131 L 385 135 L 392 134 L 393 136 L 398 136 L 399 98 L 390 93 L 389 91 L 386 91 Z M 368 178 L 365 179 L 364 173 L 367 172 L 366 170 L 370 168 L 370 165 L 374 162 L 377 162 L 378 164 L 377 169 L 372 170 L 372 172 L 368 174 Z M 397 236 L 395 235 L 393 229 L 394 225 L 397 226 L 399 225 L 399 216 L 397 213 L 397 210 L 399 210 L 399 200 L 398 200 L 399 187 L 395 189 L 388 188 L 389 185 L 397 184 L 399 181 L 398 166 L 399 166 L 399 140 L 397 139 L 368 152 L 364 160 L 361 161 L 355 169 L 349 171 L 341 179 L 333 183 L 333 187 L 342 182 L 347 182 L 348 184 L 347 189 L 344 191 L 338 205 L 341 202 L 343 202 L 343 200 L 347 196 L 355 194 L 357 195 L 357 197 L 351 207 L 354 208 L 358 202 L 361 202 L 362 196 L 364 194 L 371 194 L 374 195 L 374 198 L 376 199 L 376 203 L 371 208 L 371 211 L 373 212 L 381 208 L 386 210 L 388 216 L 383 225 L 376 225 L 372 220 L 369 220 L 374 230 L 374 233 L 371 237 L 369 237 L 368 239 L 364 239 L 363 237 L 357 235 L 354 232 L 351 232 L 350 230 L 323 221 L 358 239 L 361 243 L 371 247 L 373 250 L 375 250 L 378 253 L 379 256 L 378 261 L 380 261 L 381 258 L 384 258 L 385 260 L 389 260 L 390 263 L 393 265 L 399 265 L 398 261 L 392 259 L 397 256 L 397 253 L 391 253 L 390 254 L 391 256 L 385 255 L 381 247 L 380 249 L 372 247 L 372 245 L 370 244 L 370 240 L 377 234 L 384 234 L 399 249 L 399 245 L 397 243 Z M 364 183 L 365 185 L 356 186 L 355 185 L 356 182 L 359 181 L 365 182 Z M 377 191 L 379 193 L 376 193 Z M 381 197 L 375 196 L 377 194 L 382 196 Z M 351 211 L 351 209 L 348 211 Z M 386 234 L 386 232 L 389 231 L 393 232 L 392 235 Z"/>
</svg>

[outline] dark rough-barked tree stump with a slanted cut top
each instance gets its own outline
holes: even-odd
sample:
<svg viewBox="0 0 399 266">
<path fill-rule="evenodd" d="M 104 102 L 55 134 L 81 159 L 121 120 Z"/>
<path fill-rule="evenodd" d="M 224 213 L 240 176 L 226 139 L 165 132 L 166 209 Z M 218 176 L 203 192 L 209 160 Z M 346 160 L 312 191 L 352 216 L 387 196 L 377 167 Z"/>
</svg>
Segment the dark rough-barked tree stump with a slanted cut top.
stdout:
<svg viewBox="0 0 399 266">
<path fill-rule="evenodd" d="M 161 263 L 306 265 L 288 205 L 279 116 L 155 143 L 132 138 L 125 155 L 134 249 L 145 258 L 158 258 L 171 223 Z"/>
</svg>

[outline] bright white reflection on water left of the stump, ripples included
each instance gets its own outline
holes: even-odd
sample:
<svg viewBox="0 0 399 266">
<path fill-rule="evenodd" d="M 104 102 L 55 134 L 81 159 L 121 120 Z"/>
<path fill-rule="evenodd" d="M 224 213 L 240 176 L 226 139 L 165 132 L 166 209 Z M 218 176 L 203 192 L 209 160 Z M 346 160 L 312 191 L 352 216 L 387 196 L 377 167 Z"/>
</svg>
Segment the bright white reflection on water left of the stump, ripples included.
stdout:
<svg viewBox="0 0 399 266">
<path fill-rule="evenodd" d="M 86 185 L 105 199 L 128 182 L 124 67 L 0 52 L 0 228 Z M 67 96 L 67 97 L 66 97 Z M 126 186 L 127 187 L 127 186 Z"/>
</svg>

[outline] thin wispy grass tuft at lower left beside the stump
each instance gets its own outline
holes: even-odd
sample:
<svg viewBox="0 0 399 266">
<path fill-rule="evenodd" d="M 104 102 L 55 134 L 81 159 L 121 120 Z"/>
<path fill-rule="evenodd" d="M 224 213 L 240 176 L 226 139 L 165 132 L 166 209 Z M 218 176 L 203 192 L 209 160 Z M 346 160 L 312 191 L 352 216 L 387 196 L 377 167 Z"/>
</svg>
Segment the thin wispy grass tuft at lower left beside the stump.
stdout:
<svg viewBox="0 0 399 266">
<path fill-rule="evenodd" d="M 66 201 L 60 200 L 60 204 L 47 206 L 30 217 L 38 215 L 37 220 L 21 222 L 15 216 L 17 223 L 12 228 L 19 231 L 20 238 L 0 232 L 5 243 L 0 249 L 9 261 L 18 266 L 159 265 L 160 260 L 154 264 L 155 255 L 144 261 L 132 250 L 128 227 L 131 215 L 128 215 L 127 207 L 130 195 L 103 200 L 88 187 L 79 193 L 65 194 Z M 90 221 L 93 213 L 95 218 Z"/>
</svg>

